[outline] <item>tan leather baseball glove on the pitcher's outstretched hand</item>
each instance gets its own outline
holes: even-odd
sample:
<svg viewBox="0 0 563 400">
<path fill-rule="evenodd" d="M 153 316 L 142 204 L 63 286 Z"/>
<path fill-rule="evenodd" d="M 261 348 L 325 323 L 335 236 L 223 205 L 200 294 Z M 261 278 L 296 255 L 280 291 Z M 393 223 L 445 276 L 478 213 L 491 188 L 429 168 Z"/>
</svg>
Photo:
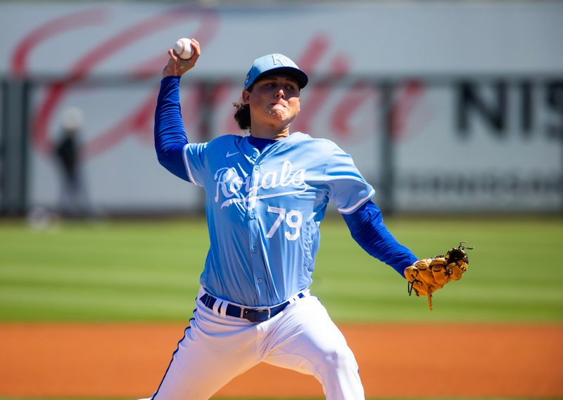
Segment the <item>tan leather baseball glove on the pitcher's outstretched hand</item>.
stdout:
<svg viewBox="0 0 563 400">
<path fill-rule="evenodd" d="M 469 257 L 465 250 L 471 250 L 473 247 L 466 247 L 464 243 L 450 249 L 445 255 L 421 259 L 408 266 L 405 269 L 405 278 L 408 280 L 409 296 L 413 290 L 417 296 L 427 296 L 428 305 L 432 309 L 432 293 L 443 288 L 443 285 L 452 279 L 460 280 L 467 271 Z"/>
</svg>

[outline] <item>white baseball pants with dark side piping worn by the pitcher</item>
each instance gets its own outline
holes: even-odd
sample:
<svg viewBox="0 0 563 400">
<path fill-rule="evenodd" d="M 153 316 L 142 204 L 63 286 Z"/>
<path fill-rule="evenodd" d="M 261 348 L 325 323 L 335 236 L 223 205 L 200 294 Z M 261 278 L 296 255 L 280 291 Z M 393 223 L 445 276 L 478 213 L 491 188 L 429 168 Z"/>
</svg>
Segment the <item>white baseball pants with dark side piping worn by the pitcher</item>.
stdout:
<svg viewBox="0 0 563 400">
<path fill-rule="evenodd" d="M 199 298 L 152 400 L 207 400 L 260 362 L 314 375 L 327 400 L 364 400 L 358 364 L 317 297 L 292 297 L 283 311 L 252 323 L 209 309 Z"/>
</svg>

